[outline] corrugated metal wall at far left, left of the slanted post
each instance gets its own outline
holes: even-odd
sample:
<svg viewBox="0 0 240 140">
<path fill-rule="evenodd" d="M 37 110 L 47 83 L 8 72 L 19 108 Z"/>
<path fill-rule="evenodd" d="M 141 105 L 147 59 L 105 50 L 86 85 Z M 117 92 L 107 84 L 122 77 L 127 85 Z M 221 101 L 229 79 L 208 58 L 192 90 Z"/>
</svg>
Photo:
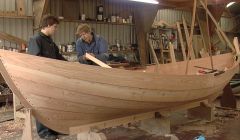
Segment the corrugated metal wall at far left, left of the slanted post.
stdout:
<svg viewBox="0 0 240 140">
<path fill-rule="evenodd" d="M 0 11 L 16 11 L 16 0 L 0 0 Z M 26 16 L 32 16 L 32 0 L 25 0 Z M 0 17 L 0 31 L 28 40 L 33 35 L 33 19 Z M 17 47 L 7 41 L 2 44 L 7 47 Z"/>
</svg>

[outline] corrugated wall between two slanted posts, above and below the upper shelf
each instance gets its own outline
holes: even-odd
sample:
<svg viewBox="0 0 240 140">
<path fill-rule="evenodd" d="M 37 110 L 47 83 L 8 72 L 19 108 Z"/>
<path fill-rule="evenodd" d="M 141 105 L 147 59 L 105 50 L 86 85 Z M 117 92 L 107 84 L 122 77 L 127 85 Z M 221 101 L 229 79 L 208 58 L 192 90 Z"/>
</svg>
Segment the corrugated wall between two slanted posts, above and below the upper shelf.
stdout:
<svg viewBox="0 0 240 140">
<path fill-rule="evenodd" d="M 50 5 L 50 12 L 55 16 L 62 16 L 61 0 L 53 0 Z M 99 0 L 80 0 L 79 13 L 85 14 L 89 19 L 96 19 L 96 9 Z M 104 17 L 109 18 L 112 15 L 128 18 L 132 15 L 132 7 L 128 3 L 119 3 L 117 1 L 105 0 L 102 1 L 104 5 Z M 58 28 L 54 40 L 57 43 L 68 43 L 76 41 L 75 31 L 77 25 L 81 21 L 62 21 Z M 90 23 L 93 30 L 103 36 L 110 45 L 115 44 L 116 40 L 120 40 L 121 44 L 136 43 L 135 28 L 129 24 L 111 24 L 111 23 Z"/>
</svg>

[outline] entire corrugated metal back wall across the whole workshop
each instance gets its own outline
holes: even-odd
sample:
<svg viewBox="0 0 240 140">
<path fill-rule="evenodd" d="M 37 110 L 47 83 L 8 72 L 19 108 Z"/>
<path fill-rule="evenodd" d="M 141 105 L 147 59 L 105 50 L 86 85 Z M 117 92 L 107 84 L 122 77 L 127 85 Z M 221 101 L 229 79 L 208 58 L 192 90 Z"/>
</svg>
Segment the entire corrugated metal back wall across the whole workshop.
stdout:
<svg viewBox="0 0 240 140">
<path fill-rule="evenodd" d="M 16 0 L 0 0 L 0 11 L 15 11 Z M 61 8 L 62 0 L 51 0 L 49 11 L 61 16 L 63 9 Z M 80 0 L 79 13 L 85 14 L 88 18 L 96 18 L 96 6 L 99 0 Z M 119 15 L 127 18 L 132 15 L 134 5 L 129 3 L 120 3 L 119 1 L 105 0 L 102 1 L 104 5 L 104 17 L 111 15 Z M 26 15 L 32 16 L 32 0 L 25 0 Z M 188 23 L 191 23 L 191 12 L 162 9 L 157 13 L 156 19 L 165 20 L 169 24 L 174 24 L 181 20 L 184 15 Z M 79 21 L 62 21 L 58 28 L 57 34 L 54 36 L 56 43 L 70 43 L 76 40 L 75 31 Z M 229 31 L 234 26 L 234 22 L 230 18 L 222 18 L 221 26 L 225 31 Z M 97 34 L 102 35 L 109 44 L 115 44 L 115 40 L 121 40 L 122 44 L 136 43 L 135 27 L 132 25 L 114 25 L 114 24 L 90 24 Z M 32 19 L 13 19 L 0 17 L 0 31 L 28 40 L 33 35 L 33 20 Z M 7 43 L 6 43 L 7 44 Z"/>
</svg>

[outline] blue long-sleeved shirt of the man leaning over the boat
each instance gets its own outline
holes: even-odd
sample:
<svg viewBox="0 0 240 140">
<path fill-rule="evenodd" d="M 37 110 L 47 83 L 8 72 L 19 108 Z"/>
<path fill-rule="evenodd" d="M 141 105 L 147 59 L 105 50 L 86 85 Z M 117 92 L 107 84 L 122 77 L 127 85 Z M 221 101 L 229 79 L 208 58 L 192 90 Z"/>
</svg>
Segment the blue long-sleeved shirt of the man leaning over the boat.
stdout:
<svg viewBox="0 0 240 140">
<path fill-rule="evenodd" d="M 78 53 L 78 59 L 80 63 L 84 63 L 83 55 L 85 53 L 93 53 L 96 58 L 107 53 L 108 51 L 108 44 L 107 41 L 94 33 L 92 33 L 93 39 L 90 44 L 79 38 L 76 43 L 76 50 Z"/>
</svg>

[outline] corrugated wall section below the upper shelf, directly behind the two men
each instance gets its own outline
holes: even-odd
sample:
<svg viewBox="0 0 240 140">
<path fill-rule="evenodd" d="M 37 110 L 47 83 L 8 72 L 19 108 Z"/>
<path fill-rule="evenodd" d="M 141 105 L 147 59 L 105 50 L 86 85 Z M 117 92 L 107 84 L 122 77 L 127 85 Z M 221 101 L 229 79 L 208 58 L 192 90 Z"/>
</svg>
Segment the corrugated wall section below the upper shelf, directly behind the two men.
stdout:
<svg viewBox="0 0 240 140">
<path fill-rule="evenodd" d="M 76 41 L 76 28 L 79 22 L 62 21 L 57 29 L 53 39 L 56 43 L 64 44 Z M 96 34 L 103 36 L 110 45 L 120 40 L 121 44 L 136 43 L 135 28 L 131 25 L 114 25 L 89 23 Z"/>
</svg>

